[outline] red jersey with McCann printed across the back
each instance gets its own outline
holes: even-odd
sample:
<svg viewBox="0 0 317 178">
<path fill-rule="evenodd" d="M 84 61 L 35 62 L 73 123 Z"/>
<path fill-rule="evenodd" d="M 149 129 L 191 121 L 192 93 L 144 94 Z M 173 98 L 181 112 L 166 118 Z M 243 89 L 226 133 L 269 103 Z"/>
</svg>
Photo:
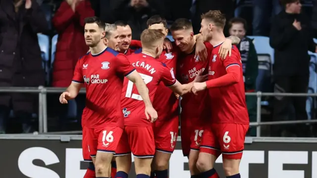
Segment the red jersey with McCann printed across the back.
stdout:
<svg viewBox="0 0 317 178">
<path fill-rule="evenodd" d="M 151 102 L 154 100 L 159 83 L 164 86 L 175 84 L 173 69 L 157 59 L 146 54 L 128 56 L 130 63 L 136 68 L 149 89 Z M 121 95 L 121 108 L 124 115 L 124 125 L 151 126 L 152 123 L 145 116 L 145 105 L 142 97 L 133 83 L 125 78 Z"/>
</svg>

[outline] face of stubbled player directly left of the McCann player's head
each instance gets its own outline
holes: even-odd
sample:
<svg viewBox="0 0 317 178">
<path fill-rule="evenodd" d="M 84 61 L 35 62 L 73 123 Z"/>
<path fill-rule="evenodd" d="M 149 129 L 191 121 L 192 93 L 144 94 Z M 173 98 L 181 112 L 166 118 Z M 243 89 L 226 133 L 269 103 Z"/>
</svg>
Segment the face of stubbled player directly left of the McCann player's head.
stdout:
<svg viewBox="0 0 317 178">
<path fill-rule="evenodd" d="M 120 51 L 126 51 L 130 47 L 130 43 L 132 40 L 132 30 L 129 25 L 123 27 L 123 26 L 117 26 L 117 31 L 119 34 L 119 45 L 118 48 Z"/>
</svg>

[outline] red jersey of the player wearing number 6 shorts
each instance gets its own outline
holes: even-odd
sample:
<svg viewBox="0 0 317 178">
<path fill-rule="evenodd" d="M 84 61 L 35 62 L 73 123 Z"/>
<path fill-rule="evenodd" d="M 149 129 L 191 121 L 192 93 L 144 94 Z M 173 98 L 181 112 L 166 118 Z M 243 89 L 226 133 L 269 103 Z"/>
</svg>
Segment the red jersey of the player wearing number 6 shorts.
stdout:
<svg viewBox="0 0 317 178">
<path fill-rule="evenodd" d="M 240 80 L 236 84 L 209 88 L 211 101 L 212 122 L 249 123 L 249 115 L 246 106 L 245 90 L 243 82 L 242 62 L 239 50 L 232 47 L 231 57 L 221 60 L 218 57 L 220 45 L 212 50 L 212 57 L 209 61 L 208 80 L 212 80 L 227 74 L 226 69 L 232 66 L 240 67 Z"/>
</svg>

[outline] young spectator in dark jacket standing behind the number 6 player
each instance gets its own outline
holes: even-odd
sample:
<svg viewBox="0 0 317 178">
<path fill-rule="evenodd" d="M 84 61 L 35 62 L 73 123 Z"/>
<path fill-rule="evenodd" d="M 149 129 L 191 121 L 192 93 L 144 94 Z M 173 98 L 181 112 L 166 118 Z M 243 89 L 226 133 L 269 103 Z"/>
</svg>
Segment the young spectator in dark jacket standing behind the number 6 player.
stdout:
<svg viewBox="0 0 317 178">
<path fill-rule="evenodd" d="M 241 39 L 237 46 L 241 54 L 243 79 L 246 92 L 255 92 L 258 76 L 258 55 L 252 39 L 246 37 L 247 21 L 243 18 L 232 18 L 229 21 L 229 33 Z M 246 103 L 251 122 L 257 121 L 257 97 L 246 96 Z M 251 136 L 256 136 L 256 129 L 250 129 Z"/>
</svg>

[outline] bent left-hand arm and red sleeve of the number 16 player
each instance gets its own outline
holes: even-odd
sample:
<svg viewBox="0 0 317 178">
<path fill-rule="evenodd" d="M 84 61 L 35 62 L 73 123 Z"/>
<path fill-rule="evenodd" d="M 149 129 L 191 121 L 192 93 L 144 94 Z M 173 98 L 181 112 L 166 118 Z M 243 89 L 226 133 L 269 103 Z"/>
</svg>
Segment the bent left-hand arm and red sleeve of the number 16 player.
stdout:
<svg viewBox="0 0 317 178">
<path fill-rule="evenodd" d="M 69 87 L 66 89 L 65 92 L 63 92 L 60 96 L 59 96 L 59 102 L 61 104 L 67 104 L 67 100 L 71 100 L 76 98 L 76 96 L 79 93 L 79 90 L 81 89 L 81 87 L 83 86 L 84 83 L 84 77 L 82 75 L 82 70 L 81 70 L 81 60 L 79 59 L 77 61 L 77 64 L 75 66 L 75 70 L 74 70 L 74 76 L 73 76 L 73 80 L 71 82 L 71 84 L 69 85 Z"/>
</svg>

